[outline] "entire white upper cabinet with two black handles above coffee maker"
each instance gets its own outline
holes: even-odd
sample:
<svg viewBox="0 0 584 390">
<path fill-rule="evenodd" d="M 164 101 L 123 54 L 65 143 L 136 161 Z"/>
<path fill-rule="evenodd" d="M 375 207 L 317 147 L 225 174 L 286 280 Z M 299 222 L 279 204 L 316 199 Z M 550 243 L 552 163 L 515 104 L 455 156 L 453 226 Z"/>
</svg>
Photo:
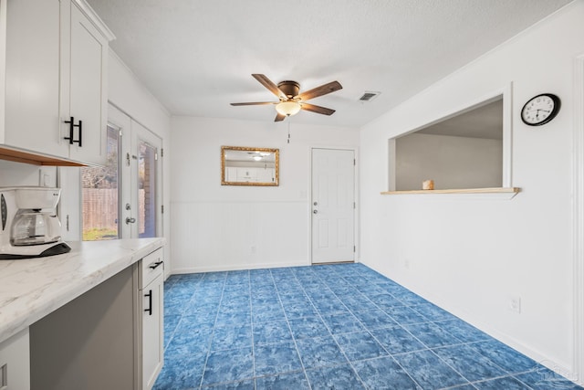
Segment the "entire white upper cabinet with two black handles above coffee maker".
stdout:
<svg viewBox="0 0 584 390">
<path fill-rule="evenodd" d="M 0 143 L 105 163 L 110 30 L 83 0 L 6 4 Z"/>
</svg>

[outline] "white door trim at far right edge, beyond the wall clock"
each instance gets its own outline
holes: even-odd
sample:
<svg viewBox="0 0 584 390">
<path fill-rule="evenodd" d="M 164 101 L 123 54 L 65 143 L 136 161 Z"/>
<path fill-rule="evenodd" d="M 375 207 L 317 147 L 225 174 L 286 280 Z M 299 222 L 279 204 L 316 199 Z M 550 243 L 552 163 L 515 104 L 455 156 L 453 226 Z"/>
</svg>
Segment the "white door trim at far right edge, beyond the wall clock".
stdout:
<svg viewBox="0 0 584 390">
<path fill-rule="evenodd" d="M 584 54 L 574 61 L 572 259 L 574 275 L 573 376 L 584 385 Z"/>
</svg>

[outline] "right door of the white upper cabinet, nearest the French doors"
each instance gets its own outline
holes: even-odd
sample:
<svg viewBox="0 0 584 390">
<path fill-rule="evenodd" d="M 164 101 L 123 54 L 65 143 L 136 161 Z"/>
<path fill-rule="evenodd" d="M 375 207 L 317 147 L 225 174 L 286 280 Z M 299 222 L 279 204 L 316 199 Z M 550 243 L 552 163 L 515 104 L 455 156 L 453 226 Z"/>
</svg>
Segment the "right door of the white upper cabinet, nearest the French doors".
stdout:
<svg viewBox="0 0 584 390">
<path fill-rule="evenodd" d="M 107 132 L 107 58 L 108 40 L 73 3 L 70 5 L 70 58 L 68 58 L 68 95 L 63 97 L 62 117 L 82 121 L 81 146 L 70 145 L 69 157 L 84 163 L 106 161 Z M 67 68 L 67 67 L 64 67 Z M 62 69 L 67 73 L 67 69 Z M 62 73 L 63 74 L 63 73 Z M 61 125 L 67 137 L 67 123 Z M 78 141 L 78 128 L 74 138 Z"/>
</svg>

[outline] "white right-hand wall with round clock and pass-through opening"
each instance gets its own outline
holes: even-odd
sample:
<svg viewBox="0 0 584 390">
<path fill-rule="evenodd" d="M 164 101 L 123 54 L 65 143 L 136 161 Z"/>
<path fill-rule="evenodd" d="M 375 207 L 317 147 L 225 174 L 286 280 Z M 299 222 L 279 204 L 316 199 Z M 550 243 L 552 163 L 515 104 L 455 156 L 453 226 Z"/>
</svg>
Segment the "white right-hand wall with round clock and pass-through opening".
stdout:
<svg viewBox="0 0 584 390">
<path fill-rule="evenodd" d="M 578 1 L 422 91 L 360 132 L 361 261 L 547 365 L 574 372 L 571 163 Z M 430 62 L 432 58 L 427 58 Z M 380 195 L 388 140 L 513 82 L 512 200 Z M 562 100 L 534 128 L 521 107 Z M 420 110 L 420 108 L 423 110 Z M 513 297 L 521 312 L 509 310 Z M 584 374 L 584 373 L 582 373 Z"/>
</svg>

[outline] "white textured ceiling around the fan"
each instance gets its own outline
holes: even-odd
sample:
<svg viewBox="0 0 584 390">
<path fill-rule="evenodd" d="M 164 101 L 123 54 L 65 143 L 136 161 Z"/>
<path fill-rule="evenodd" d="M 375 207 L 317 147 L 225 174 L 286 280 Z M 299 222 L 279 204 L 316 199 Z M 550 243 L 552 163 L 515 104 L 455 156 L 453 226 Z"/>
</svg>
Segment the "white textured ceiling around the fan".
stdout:
<svg viewBox="0 0 584 390">
<path fill-rule="evenodd" d="M 570 0 L 88 0 L 111 47 L 173 115 L 274 121 L 275 96 L 338 80 L 297 123 L 359 127 Z M 360 102 L 364 91 L 381 91 Z"/>
</svg>

